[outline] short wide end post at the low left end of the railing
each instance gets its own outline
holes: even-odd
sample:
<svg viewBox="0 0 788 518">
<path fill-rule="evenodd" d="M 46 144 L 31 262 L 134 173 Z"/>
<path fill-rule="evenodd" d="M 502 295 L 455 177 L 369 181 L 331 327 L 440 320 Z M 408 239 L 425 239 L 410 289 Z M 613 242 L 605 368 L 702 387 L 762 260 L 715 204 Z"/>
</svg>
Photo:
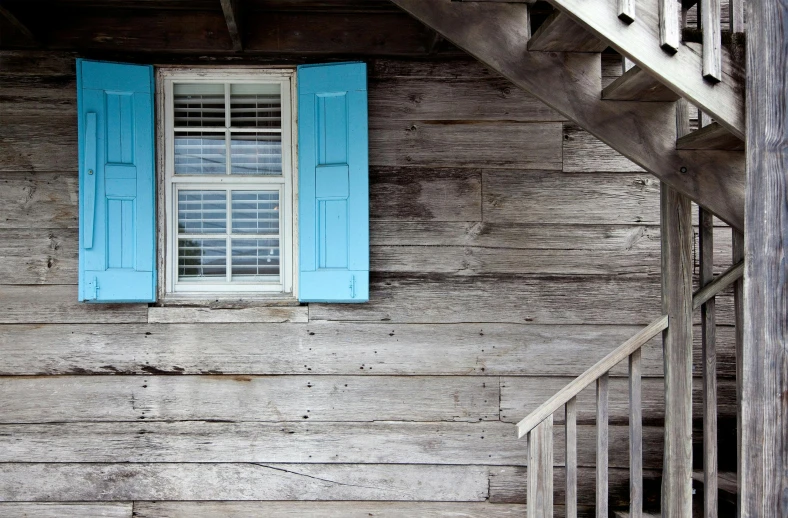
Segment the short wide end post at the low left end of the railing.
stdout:
<svg viewBox="0 0 788 518">
<path fill-rule="evenodd" d="M 528 518 L 552 518 L 552 415 L 528 432 L 528 467 Z"/>
</svg>

